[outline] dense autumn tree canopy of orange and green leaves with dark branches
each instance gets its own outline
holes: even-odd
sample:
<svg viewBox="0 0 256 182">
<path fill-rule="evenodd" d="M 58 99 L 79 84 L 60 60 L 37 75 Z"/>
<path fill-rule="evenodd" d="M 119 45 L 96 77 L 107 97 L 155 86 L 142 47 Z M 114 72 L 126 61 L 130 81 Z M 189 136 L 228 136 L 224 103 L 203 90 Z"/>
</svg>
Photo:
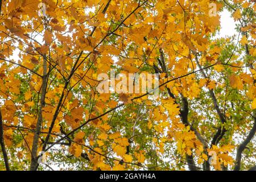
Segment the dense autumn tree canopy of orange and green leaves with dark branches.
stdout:
<svg viewBox="0 0 256 182">
<path fill-rule="evenodd" d="M 0 169 L 255 169 L 254 1 L 0 2 Z"/>
</svg>

